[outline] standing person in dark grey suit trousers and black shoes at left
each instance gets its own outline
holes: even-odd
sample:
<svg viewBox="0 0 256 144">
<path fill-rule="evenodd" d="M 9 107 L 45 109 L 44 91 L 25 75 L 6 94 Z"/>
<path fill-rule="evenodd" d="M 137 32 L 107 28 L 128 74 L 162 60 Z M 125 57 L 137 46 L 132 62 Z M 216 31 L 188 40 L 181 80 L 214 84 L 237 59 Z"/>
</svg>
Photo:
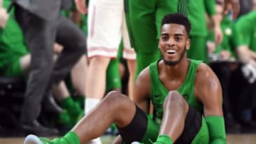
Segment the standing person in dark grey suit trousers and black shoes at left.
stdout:
<svg viewBox="0 0 256 144">
<path fill-rule="evenodd" d="M 31 53 L 31 70 L 21 111 L 21 128 L 27 133 L 53 132 L 37 118 L 41 103 L 52 85 L 58 86 L 86 51 L 85 35 L 73 22 L 60 16 L 64 1 L 16 0 L 16 21 L 23 31 Z M 53 43 L 64 49 L 53 62 Z"/>
</svg>

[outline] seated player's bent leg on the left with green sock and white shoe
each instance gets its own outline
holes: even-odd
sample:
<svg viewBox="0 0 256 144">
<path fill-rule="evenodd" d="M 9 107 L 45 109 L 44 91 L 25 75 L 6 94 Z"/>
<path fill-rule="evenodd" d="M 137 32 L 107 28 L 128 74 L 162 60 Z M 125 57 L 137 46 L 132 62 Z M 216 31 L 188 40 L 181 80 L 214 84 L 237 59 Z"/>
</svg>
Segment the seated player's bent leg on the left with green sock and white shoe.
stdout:
<svg viewBox="0 0 256 144">
<path fill-rule="evenodd" d="M 92 138 L 102 135 L 111 123 L 115 123 L 119 128 L 126 128 L 133 121 L 136 111 L 135 104 L 127 96 L 119 92 L 110 92 L 70 132 L 63 138 L 54 139 L 51 144 L 87 143 Z M 142 123 L 137 124 L 142 125 Z M 36 137 L 30 140 L 27 138 L 25 142 L 24 144 L 41 143 Z"/>
</svg>

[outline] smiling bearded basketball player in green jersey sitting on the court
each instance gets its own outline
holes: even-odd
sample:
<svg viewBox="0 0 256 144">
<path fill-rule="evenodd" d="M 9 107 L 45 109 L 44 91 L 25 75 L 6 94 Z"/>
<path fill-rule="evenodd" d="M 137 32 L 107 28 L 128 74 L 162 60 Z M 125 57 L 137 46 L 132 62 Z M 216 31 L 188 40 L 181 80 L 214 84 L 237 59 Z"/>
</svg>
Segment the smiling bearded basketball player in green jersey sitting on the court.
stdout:
<svg viewBox="0 0 256 144">
<path fill-rule="evenodd" d="M 24 143 L 83 144 L 102 135 L 111 123 L 127 144 L 226 143 L 220 82 L 208 65 L 186 56 L 190 29 L 181 14 L 164 17 L 159 40 L 163 59 L 139 74 L 135 104 L 128 96 L 110 92 L 62 138 L 48 141 L 28 135 Z M 147 115 L 150 101 L 160 124 Z"/>
</svg>

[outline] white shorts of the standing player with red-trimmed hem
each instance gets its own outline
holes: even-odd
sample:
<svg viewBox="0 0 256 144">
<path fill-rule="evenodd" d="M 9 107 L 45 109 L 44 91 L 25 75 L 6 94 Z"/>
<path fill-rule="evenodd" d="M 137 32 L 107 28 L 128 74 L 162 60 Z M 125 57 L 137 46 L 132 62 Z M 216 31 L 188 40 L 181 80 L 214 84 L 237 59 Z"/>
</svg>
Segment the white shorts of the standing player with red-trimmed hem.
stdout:
<svg viewBox="0 0 256 144">
<path fill-rule="evenodd" d="M 117 57 L 121 39 L 124 42 L 123 57 L 136 59 L 131 48 L 124 16 L 124 0 L 91 0 L 88 10 L 88 57 Z"/>
</svg>

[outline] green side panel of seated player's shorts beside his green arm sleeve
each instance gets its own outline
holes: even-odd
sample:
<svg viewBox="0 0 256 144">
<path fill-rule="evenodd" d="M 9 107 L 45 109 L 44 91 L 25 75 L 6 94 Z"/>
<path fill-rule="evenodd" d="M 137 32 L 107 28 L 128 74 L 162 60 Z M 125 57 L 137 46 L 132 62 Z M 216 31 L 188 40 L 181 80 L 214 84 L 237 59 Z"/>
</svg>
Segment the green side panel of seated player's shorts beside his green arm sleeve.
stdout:
<svg viewBox="0 0 256 144">
<path fill-rule="evenodd" d="M 209 132 L 205 118 L 202 116 L 202 126 L 191 144 L 206 144 L 209 143 Z"/>
</svg>

